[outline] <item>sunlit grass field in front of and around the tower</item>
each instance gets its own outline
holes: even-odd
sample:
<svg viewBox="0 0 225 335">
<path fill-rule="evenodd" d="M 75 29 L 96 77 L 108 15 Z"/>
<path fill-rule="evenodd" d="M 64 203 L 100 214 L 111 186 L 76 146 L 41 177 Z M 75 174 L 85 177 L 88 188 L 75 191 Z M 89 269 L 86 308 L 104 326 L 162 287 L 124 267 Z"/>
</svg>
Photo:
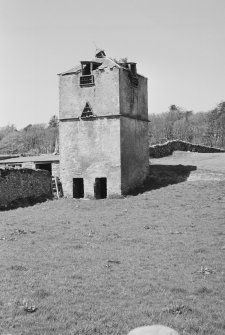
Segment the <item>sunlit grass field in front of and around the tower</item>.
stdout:
<svg viewBox="0 0 225 335">
<path fill-rule="evenodd" d="M 160 323 L 224 335 L 225 155 L 204 155 L 152 160 L 197 170 L 137 196 L 1 212 L 0 333 L 125 335 Z"/>
</svg>

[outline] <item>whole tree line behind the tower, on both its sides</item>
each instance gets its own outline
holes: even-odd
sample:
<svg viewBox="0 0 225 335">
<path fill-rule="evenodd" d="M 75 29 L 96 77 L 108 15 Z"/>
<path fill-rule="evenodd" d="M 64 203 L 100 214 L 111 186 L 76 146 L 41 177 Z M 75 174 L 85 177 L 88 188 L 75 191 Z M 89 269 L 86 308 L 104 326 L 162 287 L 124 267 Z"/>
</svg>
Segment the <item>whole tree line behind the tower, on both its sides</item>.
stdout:
<svg viewBox="0 0 225 335">
<path fill-rule="evenodd" d="M 150 114 L 149 144 L 183 140 L 225 149 L 225 101 L 213 110 L 193 113 L 176 105 L 167 112 Z M 59 122 L 53 115 L 48 124 L 0 128 L 0 154 L 39 155 L 58 151 Z"/>
</svg>

